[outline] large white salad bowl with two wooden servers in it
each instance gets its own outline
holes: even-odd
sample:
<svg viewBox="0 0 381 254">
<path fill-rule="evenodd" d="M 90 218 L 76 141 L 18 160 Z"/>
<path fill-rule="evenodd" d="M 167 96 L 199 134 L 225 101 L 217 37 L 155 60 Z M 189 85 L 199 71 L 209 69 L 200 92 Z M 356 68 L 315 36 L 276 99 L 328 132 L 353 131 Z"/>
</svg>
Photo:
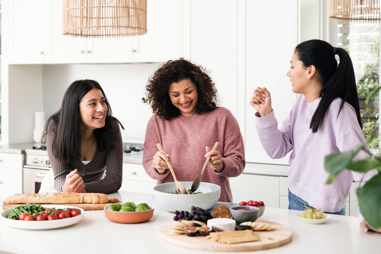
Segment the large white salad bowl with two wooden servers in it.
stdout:
<svg viewBox="0 0 381 254">
<path fill-rule="evenodd" d="M 191 189 L 193 182 L 182 182 L 186 190 Z M 165 210 L 186 211 L 192 206 L 208 210 L 215 205 L 221 194 L 221 187 L 217 184 L 201 182 L 197 192 L 201 194 L 171 194 L 176 190 L 174 182 L 159 184 L 154 187 L 154 197 L 156 202 Z M 169 192 L 169 193 L 168 193 Z"/>
</svg>

